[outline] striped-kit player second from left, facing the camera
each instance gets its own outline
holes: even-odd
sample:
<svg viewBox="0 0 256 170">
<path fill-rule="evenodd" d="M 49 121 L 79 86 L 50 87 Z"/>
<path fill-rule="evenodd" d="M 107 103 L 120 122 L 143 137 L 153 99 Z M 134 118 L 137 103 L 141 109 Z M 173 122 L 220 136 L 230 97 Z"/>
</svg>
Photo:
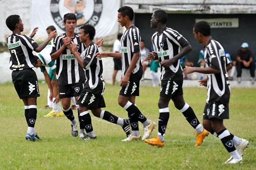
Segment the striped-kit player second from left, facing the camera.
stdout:
<svg viewBox="0 0 256 170">
<path fill-rule="evenodd" d="M 63 26 L 66 28 L 66 33 L 56 37 L 51 52 L 52 60 L 56 60 L 56 75 L 59 88 L 59 98 L 62 104 L 62 111 L 71 121 L 72 136 L 78 135 L 77 120 L 74 117 L 73 111 L 70 108 L 71 97 L 75 96 L 77 101 L 78 96 L 83 89 L 83 83 L 86 81 L 83 68 L 78 64 L 75 56 L 67 48 L 72 41 L 77 44 L 78 53 L 82 53 L 85 49 L 83 43 L 80 42 L 78 34 L 75 33 L 76 15 L 67 13 L 63 17 Z M 98 43 L 102 44 L 102 39 Z M 97 42 L 96 42 L 97 44 Z M 90 115 L 90 114 L 89 114 Z M 84 133 L 84 127 L 79 116 L 80 134 Z"/>
</svg>

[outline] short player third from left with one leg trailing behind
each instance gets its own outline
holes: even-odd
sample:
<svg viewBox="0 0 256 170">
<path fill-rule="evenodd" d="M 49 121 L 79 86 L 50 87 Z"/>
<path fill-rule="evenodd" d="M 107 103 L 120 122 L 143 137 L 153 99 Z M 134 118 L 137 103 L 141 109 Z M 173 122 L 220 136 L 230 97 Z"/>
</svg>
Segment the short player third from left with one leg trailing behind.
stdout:
<svg viewBox="0 0 256 170">
<path fill-rule="evenodd" d="M 91 25 L 83 25 L 79 29 L 79 38 L 80 41 L 86 45 L 86 49 L 80 55 L 80 53 L 77 52 L 77 45 L 74 42 L 72 42 L 72 45 L 68 45 L 68 48 L 75 56 L 79 65 L 85 69 L 86 74 L 86 83 L 84 84 L 84 88 L 82 89 L 77 104 L 79 105 L 81 120 L 83 121 L 84 128 L 88 135 L 84 133 L 80 138 L 83 140 L 97 138 L 93 130 L 89 110 L 91 110 L 96 117 L 120 125 L 126 133 L 126 136 L 129 136 L 131 131 L 128 118 L 122 119 L 108 111 L 101 110 L 101 108 L 105 107 L 104 98 L 102 96 L 105 89 L 105 83 L 102 77 L 102 61 L 95 56 L 99 50 L 98 46 L 93 42 L 94 36 L 95 28 Z"/>
</svg>

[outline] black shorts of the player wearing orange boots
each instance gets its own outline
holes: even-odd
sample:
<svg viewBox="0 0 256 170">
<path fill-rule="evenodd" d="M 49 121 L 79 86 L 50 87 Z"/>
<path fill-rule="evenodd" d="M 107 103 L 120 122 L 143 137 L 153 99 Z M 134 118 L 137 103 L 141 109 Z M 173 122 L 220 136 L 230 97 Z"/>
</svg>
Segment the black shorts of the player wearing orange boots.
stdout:
<svg viewBox="0 0 256 170">
<path fill-rule="evenodd" d="M 161 82 L 160 96 L 172 99 L 183 94 L 183 80 L 165 80 Z"/>
</svg>

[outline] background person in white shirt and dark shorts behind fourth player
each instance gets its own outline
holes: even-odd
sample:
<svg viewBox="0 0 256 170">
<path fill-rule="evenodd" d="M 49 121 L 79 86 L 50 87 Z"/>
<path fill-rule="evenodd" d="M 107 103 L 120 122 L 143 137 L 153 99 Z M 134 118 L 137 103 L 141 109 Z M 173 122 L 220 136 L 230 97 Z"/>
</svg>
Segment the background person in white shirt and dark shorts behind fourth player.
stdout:
<svg viewBox="0 0 256 170">
<path fill-rule="evenodd" d="M 121 37 L 122 37 L 122 33 L 117 34 L 117 39 L 115 40 L 114 44 L 113 44 L 113 52 L 114 53 L 121 53 Z M 114 72 L 113 72 L 113 85 L 116 84 L 116 74 L 118 72 L 118 70 L 122 70 L 122 62 L 121 59 L 118 58 L 113 58 L 114 60 Z"/>
</svg>

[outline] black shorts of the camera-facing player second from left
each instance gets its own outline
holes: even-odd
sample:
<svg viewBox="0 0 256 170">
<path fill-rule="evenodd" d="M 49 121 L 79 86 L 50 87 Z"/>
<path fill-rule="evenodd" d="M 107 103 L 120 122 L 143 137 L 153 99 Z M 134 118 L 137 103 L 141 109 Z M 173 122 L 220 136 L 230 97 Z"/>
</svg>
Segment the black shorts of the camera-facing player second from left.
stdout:
<svg viewBox="0 0 256 170">
<path fill-rule="evenodd" d="M 59 86 L 59 98 L 72 98 L 79 96 L 84 85 L 82 83 Z"/>
</svg>

